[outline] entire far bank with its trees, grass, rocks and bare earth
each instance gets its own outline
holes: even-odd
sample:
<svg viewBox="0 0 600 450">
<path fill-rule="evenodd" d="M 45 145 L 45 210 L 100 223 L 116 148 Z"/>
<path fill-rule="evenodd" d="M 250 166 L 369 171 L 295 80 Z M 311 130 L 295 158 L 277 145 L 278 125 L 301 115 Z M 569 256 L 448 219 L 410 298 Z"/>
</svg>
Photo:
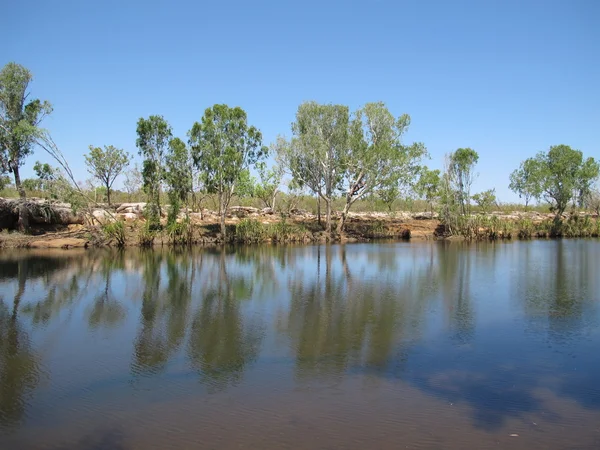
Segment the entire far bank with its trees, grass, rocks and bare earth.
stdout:
<svg viewBox="0 0 600 450">
<path fill-rule="evenodd" d="M 441 170 L 427 167 L 425 144 L 404 142 L 410 116 L 381 101 L 354 111 L 304 102 L 291 134 L 268 146 L 239 106 L 206 108 L 184 139 L 163 116 L 141 117 L 140 166 L 124 149 L 90 145 L 81 180 L 41 127 L 52 105 L 31 95 L 31 81 L 14 62 L 0 70 L 2 247 L 600 235 L 594 158 L 563 144 L 538 152 L 506 180 L 524 204 L 502 204 L 495 188 L 473 192 L 477 151 L 458 148 Z M 35 177 L 22 179 L 35 151 L 52 164 L 37 161 Z"/>
</svg>

